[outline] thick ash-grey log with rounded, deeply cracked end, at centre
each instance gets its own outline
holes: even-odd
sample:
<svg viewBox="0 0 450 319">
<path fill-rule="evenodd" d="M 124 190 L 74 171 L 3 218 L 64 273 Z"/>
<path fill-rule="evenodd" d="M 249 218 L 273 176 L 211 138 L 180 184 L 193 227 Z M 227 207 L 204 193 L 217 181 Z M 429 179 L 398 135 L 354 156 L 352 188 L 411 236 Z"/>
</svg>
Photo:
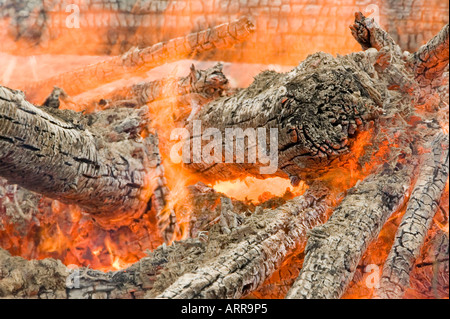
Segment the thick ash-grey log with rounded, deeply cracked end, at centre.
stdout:
<svg viewBox="0 0 450 319">
<path fill-rule="evenodd" d="M 185 165 L 206 180 L 272 174 L 289 177 L 295 185 L 320 177 L 345 161 L 358 133 L 372 127 L 382 113 L 383 98 L 389 93 L 374 74 L 364 54 L 334 58 L 326 53 L 309 56 L 289 73 L 263 72 L 249 88 L 205 105 L 188 123 L 191 154 Z M 201 121 L 202 132 L 195 129 L 196 120 Z M 208 128 L 218 129 L 222 137 L 212 163 L 199 161 L 194 154 L 196 143 L 210 145 L 199 137 Z M 247 131 L 241 128 L 263 129 L 264 138 L 258 136 L 256 142 L 249 137 L 245 142 Z M 228 140 L 226 131 L 231 129 L 236 131 Z M 264 173 L 261 168 L 269 163 L 263 163 L 261 155 L 272 156 L 269 148 L 276 143 L 270 129 L 278 134 L 278 162 L 275 172 Z M 240 143 L 235 152 L 227 149 L 227 141 L 228 146 L 229 141 Z M 245 162 L 239 158 L 243 153 Z M 253 163 L 250 156 L 256 154 Z"/>
</svg>

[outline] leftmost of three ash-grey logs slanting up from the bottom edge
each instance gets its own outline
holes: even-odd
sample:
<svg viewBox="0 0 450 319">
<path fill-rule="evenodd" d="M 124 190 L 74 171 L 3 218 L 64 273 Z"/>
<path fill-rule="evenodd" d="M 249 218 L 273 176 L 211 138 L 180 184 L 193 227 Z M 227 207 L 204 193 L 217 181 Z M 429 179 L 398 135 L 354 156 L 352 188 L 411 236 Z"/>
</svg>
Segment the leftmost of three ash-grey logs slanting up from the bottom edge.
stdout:
<svg viewBox="0 0 450 319">
<path fill-rule="evenodd" d="M 277 209 L 250 216 L 228 235 L 241 240 L 232 240 L 229 247 L 182 275 L 157 298 L 240 298 L 255 290 L 304 241 L 306 230 L 323 221 L 326 193 L 323 188 L 311 189 Z M 252 219 L 256 228 L 251 226 Z"/>
</svg>

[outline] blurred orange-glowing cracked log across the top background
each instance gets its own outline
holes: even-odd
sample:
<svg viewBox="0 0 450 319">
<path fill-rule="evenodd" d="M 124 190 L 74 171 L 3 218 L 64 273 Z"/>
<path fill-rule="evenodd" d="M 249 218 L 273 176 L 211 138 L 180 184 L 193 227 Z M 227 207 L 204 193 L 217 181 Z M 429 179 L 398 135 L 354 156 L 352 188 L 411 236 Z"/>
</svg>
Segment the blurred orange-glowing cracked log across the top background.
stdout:
<svg viewBox="0 0 450 319">
<path fill-rule="evenodd" d="M 378 15 L 402 49 L 414 52 L 448 23 L 449 9 L 441 0 L 102 0 L 84 1 L 80 29 L 71 29 L 65 25 L 70 13 L 59 1 L 8 0 L 2 5 L 4 30 L 12 38 L 4 50 L 23 39 L 39 51 L 79 54 L 66 44 L 80 43 L 84 54 L 119 54 L 248 15 L 256 18 L 256 36 L 236 51 L 211 52 L 209 58 L 288 65 L 311 52 L 357 49 L 345 32 L 355 11 Z"/>
</svg>

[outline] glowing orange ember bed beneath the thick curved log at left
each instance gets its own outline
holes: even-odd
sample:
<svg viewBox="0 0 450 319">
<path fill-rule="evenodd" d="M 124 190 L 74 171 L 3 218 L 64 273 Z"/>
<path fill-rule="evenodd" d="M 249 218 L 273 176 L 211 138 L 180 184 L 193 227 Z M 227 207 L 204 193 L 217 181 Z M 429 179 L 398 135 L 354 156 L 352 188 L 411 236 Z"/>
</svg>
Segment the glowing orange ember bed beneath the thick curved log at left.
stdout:
<svg viewBox="0 0 450 319">
<path fill-rule="evenodd" d="M 189 187 L 188 191 L 185 201 L 192 206 L 188 205 L 191 220 L 187 227 L 195 238 L 214 225 L 213 220 L 220 215 L 218 202 L 225 195 L 205 185 Z M 109 267 L 116 257 L 126 258 L 127 263 L 131 258 L 144 258 L 146 250 L 153 251 L 163 243 L 155 212 L 157 192 L 158 188 L 149 201 L 150 210 L 138 220 L 119 229 L 104 229 L 76 206 L 44 198 L 1 179 L 0 194 L 5 197 L 0 199 L 0 247 L 29 260 L 54 258 L 66 265 L 90 265 L 94 269 Z M 233 206 L 240 214 L 255 210 L 254 205 L 235 200 Z M 272 205 L 268 203 L 267 207 Z"/>
</svg>

